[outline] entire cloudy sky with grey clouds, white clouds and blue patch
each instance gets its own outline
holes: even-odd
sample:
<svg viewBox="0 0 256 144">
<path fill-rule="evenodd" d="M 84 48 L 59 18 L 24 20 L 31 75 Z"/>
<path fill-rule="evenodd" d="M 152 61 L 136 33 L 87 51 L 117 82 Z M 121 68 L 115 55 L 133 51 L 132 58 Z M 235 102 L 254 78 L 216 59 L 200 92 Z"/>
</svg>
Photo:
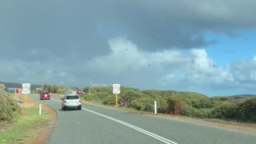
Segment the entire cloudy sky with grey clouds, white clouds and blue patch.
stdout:
<svg viewBox="0 0 256 144">
<path fill-rule="evenodd" d="M 0 82 L 256 94 L 254 0 L 6 0 Z"/>
</svg>

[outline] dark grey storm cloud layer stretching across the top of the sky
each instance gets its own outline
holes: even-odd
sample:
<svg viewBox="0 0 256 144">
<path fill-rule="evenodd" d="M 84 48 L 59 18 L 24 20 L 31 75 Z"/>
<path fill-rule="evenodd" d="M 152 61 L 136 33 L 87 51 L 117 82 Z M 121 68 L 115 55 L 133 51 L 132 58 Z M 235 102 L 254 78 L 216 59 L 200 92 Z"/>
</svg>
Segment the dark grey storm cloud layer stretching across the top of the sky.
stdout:
<svg viewBox="0 0 256 144">
<path fill-rule="evenodd" d="M 117 36 L 127 36 L 149 50 L 190 49 L 216 42 L 206 41 L 206 32 L 232 35 L 234 30 L 255 28 L 256 19 L 253 0 L 1 3 L 1 49 L 18 58 L 34 49 L 62 58 L 72 52 L 92 58 L 108 53 L 106 41 Z"/>
</svg>

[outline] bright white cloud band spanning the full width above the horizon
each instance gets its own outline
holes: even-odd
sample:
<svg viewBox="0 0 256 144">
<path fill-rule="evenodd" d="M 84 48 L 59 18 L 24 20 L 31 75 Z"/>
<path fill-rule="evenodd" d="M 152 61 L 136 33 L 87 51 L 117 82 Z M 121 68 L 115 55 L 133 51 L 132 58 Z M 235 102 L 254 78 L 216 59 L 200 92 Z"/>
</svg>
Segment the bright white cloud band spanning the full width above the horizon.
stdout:
<svg viewBox="0 0 256 144">
<path fill-rule="evenodd" d="M 95 56 L 82 65 L 63 64 L 58 59 L 50 64 L 41 62 L 0 62 L 1 81 L 30 82 L 86 86 L 90 82 L 138 89 L 194 91 L 209 96 L 238 94 L 254 91 L 256 58 L 230 63 L 224 67 L 215 64 L 206 50 L 143 51 L 127 38 L 109 40 L 110 52 Z M 35 69 L 36 68 L 36 69 Z M 10 78 L 11 77 L 11 78 Z"/>
</svg>

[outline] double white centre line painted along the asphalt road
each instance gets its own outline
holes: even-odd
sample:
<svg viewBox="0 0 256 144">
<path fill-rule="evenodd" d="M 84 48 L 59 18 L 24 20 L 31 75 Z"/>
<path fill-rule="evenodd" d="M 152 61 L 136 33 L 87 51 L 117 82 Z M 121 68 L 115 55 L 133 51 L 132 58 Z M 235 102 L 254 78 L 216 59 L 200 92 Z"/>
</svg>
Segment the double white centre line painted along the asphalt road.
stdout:
<svg viewBox="0 0 256 144">
<path fill-rule="evenodd" d="M 54 100 L 54 101 L 56 101 L 56 102 L 62 102 L 62 101 L 59 101 L 59 100 L 56 100 L 56 99 L 53 99 L 53 98 L 51 98 L 51 100 Z M 163 137 L 161 137 L 161 136 L 158 135 L 158 134 L 151 133 L 150 131 L 147 131 L 147 130 L 144 130 L 144 129 L 142 129 L 142 128 L 139 128 L 138 126 L 131 125 L 130 123 L 123 122 L 123 121 L 121 121 L 121 120 L 119 120 L 119 119 L 112 118 L 112 117 L 109 117 L 109 116 L 107 116 L 107 115 L 100 114 L 100 113 L 98 113 L 98 112 L 96 112 L 96 111 L 88 110 L 88 109 L 83 108 L 83 107 L 82 107 L 82 110 L 89 111 L 90 113 L 97 114 L 97 115 L 102 116 L 102 117 L 104 117 L 104 118 L 108 118 L 108 119 L 110 119 L 110 120 L 112 120 L 112 121 L 114 121 L 114 122 L 118 122 L 118 123 L 120 123 L 120 124 L 122 124 L 122 125 L 124 125 L 124 126 L 128 126 L 128 127 L 132 128 L 132 129 L 134 129 L 134 130 L 138 130 L 139 132 L 141 132 L 141 133 L 143 133 L 143 134 L 146 134 L 146 135 L 149 135 L 149 136 L 152 137 L 152 138 L 156 138 L 156 139 L 158 139 L 159 141 L 164 142 L 164 143 L 166 143 L 166 144 L 178 144 L 177 142 L 173 142 L 173 141 L 171 141 L 170 139 L 163 138 Z"/>
</svg>

